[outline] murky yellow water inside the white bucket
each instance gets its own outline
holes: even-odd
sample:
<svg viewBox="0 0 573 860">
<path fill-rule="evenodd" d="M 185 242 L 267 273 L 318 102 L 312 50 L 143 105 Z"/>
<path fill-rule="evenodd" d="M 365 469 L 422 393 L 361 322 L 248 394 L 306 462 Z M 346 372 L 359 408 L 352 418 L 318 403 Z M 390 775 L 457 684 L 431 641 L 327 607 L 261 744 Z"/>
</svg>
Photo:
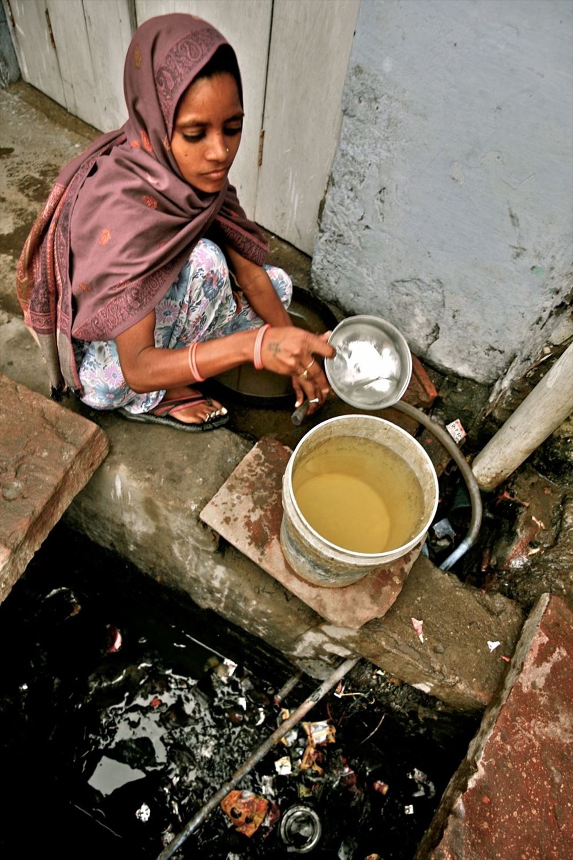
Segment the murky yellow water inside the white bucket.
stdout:
<svg viewBox="0 0 573 860">
<path fill-rule="evenodd" d="M 296 465 L 292 487 L 308 525 L 345 550 L 394 550 L 422 524 L 418 478 L 399 454 L 370 439 L 327 439 Z"/>
</svg>

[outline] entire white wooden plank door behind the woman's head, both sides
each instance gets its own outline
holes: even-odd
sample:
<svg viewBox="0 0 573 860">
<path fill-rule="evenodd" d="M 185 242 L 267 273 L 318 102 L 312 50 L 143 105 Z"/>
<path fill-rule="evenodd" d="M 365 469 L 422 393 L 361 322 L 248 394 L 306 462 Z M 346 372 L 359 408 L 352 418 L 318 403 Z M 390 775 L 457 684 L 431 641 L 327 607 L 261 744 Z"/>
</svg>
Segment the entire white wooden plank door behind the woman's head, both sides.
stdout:
<svg viewBox="0 0 573 860">
<path fill-rule="evenodd" d="M 186 12 L 235 48 L 245 98 L 230 179 L 250 218 L 312 254 L 360 0 L 3 0 L 22 77 L 101 131 L 122 126 L 138 24 Z M 259 157 L 264 129 L 262 160 Z"/>
</svg>

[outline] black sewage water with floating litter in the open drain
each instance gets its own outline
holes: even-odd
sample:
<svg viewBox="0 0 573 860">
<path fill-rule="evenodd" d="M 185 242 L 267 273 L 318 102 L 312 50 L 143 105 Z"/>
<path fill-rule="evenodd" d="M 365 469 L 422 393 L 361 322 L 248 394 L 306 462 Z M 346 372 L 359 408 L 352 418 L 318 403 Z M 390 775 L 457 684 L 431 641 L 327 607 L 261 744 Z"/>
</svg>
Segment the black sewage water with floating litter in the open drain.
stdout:
<svg viewBox="0 0 573 860">
<path fill-rule="evenodd" d="M 64 525 L 0 642 L 3 857 L 157 857 L 320 683 Z M 477 724 L 426 699 L 362 661 L 176 857 L 411 860 Z"/>
</svg>

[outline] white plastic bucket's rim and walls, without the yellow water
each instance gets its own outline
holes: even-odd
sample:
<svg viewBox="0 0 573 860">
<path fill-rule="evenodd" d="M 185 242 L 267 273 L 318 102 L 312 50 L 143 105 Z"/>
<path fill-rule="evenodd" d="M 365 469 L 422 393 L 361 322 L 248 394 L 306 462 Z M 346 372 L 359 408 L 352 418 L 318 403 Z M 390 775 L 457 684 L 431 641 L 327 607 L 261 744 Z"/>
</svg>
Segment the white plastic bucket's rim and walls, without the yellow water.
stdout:
<svg viewBox="0 0 573 860">
<path fill-rule="evenodd" d="M 345 550 L 322 537 L 308 524 L 296 504 L 292 478 L 297 464 L 302 462 L 326 439 L 357 436 L 390 448 L 405 461 L 418 478 L 424 496 L 422 525 L 407 544 L 381 553 L 361 553 Z M 386 567 L 408 553 L 410 562 L 416 558 L 424 537 L 436 513 L 438 482 L 436 470 L 416 439 L 401 427 L 374 415 L 340 415 L 314 427 L 296 445 L 283 476 L 283 522 L 281 548 L 286 561 L 296 574 L 314 585 L 343 587 L 351 585 L 375 568 Z"/>
</svg>

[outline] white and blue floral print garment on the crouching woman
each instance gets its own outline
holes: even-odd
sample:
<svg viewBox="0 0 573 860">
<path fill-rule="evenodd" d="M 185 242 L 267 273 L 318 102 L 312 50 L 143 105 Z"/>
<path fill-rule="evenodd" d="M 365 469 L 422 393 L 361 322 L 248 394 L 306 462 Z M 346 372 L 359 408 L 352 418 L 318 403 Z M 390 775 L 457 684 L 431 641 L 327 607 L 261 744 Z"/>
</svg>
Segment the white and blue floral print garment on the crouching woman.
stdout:
<svg viewBox="0 0 573 860">
<path fill-rule="evenodd" d="M 292 282 L 283 269 L 265 266 L 285 308 Z M 200 239 L 178 278 L 155 307 L 155 347 L 184 349 L 193 341 L 212 341 L 262 324 L 242 294 L 233 292 L 221 249 Z M 94 409 L 123 407 L 135 415 L 155 408 L 164 390 L 137 394 L 125 383 L 115 341 L 74 341 L 82 382 L 82 401 Z"/>
</svg>

